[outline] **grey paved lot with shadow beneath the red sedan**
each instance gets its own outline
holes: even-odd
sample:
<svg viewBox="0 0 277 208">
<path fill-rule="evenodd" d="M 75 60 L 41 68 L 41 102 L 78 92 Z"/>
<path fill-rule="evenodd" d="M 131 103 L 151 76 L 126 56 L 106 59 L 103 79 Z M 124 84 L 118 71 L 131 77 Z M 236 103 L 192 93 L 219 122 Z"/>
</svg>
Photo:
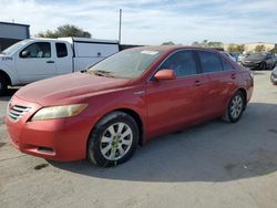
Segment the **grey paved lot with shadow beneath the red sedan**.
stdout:
<svg viewBox="0 0 277 208">
<path fill-rule="evenodd" d="M 0 115 L 9 97 L 0 98 Z M 38 138 L 39 139 L 39 138 Z M 20 154 L 0 121 L 0 207 L 276 207 L 277 86 L 255 72 L 237 124 L 156 138 L 115 168 Z"/>
</svg>

